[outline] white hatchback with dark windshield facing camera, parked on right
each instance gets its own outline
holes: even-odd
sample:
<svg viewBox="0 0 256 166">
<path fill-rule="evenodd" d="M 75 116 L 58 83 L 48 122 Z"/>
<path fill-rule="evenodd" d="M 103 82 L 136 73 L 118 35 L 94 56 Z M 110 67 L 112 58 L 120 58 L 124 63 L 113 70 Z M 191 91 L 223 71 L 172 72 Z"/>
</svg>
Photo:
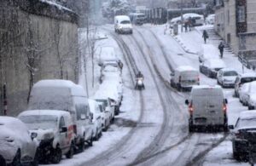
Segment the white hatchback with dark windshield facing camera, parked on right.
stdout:
<svg viewBox="0 0 256 166">
<path fill-rule="evenodd" d="M 223 88 L 224 87 L 231 87 L 235 86 L 236 77 L 238 73 L 235 69 L 231 68 L 223 68 L 218 71 L 217 74 L 217 83 L 220 84 Z"/>
</svg>

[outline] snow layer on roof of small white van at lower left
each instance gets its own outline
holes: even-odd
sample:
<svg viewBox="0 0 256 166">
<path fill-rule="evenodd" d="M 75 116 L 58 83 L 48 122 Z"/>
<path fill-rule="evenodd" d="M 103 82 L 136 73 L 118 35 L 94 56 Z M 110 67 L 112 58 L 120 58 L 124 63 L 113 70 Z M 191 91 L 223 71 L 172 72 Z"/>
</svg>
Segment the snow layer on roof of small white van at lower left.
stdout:
<svg viewBox="0 0 256 166">
<path fill-rule="evenodd" d="M 50 115 L 55 117 L 61 117 L 63 115 L 70 115 L 69 112 L 60 111 L 60 110 L 28 110 L 21 112 L 18 117 L 21 116 L 32 116 L 32 115 Z"/>
</svg>

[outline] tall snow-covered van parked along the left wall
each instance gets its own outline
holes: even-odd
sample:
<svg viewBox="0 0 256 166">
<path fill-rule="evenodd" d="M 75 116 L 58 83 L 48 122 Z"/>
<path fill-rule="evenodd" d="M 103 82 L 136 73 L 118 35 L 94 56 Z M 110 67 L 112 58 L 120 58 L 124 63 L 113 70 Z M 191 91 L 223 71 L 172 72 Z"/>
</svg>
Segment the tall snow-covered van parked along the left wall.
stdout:
<svg viewBox="0 0 256 166">
<path fill-rule="evenodd" d="M 92 146 L 93 123 L 83 87 L 67 80 L 42 80 L 35 83 L 28 110 L 70 112 L 76 134 L 76 150 L 84 151 L 84 141 Z"/>
</svg>

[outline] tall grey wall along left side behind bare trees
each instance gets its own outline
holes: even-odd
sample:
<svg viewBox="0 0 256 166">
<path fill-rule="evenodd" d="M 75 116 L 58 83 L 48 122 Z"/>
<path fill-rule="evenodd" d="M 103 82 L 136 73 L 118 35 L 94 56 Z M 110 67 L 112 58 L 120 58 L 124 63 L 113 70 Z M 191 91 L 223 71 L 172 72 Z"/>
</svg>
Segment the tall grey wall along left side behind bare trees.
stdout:
<svg viewBox="0 0 256 166">
<path fill-rule="evenodd" d="M 8 115 L 26 110 L 29 89 L 40 79 L 77 83 L 77 22 L 72 11 L 38 0 L 0 1 L 0 115 L 4 83 Z"/>
</svg>

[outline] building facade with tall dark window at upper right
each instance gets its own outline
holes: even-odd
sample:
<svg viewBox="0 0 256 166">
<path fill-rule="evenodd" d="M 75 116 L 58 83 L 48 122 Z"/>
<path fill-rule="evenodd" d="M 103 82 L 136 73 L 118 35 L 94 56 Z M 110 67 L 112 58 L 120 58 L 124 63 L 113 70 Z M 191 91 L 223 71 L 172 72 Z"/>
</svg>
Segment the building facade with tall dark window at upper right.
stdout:
<svg viewBox="0 0 256 166">
<path fill-rule="evenodd" d="M 256 55 L 256 2 L 216 0 L 215 31 L 242 56 Z"/>
</svg>

